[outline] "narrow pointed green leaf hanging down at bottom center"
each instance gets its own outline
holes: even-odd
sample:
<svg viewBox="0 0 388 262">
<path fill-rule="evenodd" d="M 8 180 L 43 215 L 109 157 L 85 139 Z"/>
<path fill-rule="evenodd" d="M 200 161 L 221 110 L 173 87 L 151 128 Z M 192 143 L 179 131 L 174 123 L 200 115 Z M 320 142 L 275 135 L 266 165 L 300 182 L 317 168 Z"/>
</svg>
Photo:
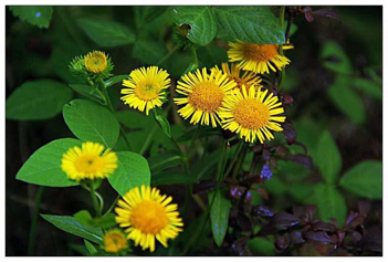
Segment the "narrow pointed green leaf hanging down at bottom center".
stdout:
<svg viewBox="0 0 388 262">
<path fill-rule="evenodd" d="M 230 213 L 232 203 L 218 188 L 216 192 L 214 191 L 209 192 L 209 205 L 211 205 L 211 208 L 210 208 L 211 231 L 213 232 L 213 238 L 217 245 L 221 247 L 223 242 L 223 238 L 227 234 L 229 213 Z"/>
</svg>

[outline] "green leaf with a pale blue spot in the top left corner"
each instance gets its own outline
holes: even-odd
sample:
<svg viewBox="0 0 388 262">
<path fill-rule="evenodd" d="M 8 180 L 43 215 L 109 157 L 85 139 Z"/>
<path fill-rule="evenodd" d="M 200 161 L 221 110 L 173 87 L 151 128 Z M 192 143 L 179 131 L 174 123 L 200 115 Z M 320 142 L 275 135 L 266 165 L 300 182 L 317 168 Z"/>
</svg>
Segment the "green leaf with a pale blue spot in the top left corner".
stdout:
<svg viewBox="0 0 388 262">
<path fill-rule="evenodd" d="M 52 7 L 10 7 L 13 15 L 19 17 L 21 21 L 29 22 L 39 28 L 49 28 L 53 13 Z"/>
</svg>

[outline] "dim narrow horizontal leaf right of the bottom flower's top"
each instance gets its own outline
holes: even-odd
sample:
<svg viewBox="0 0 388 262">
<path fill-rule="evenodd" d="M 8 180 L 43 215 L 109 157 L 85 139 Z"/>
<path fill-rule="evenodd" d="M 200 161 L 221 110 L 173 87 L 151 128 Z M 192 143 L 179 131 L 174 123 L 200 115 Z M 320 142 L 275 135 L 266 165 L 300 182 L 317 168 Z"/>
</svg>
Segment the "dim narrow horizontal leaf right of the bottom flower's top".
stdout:
<svg viewBox="0 0 388 262">
<path fill-rule="evenodd" d="M 160 185 L 188 185 L 195 184 L 196 177 L 186 172 L 166 170 L 151 176 L 153 187 Z"/>
</svg>

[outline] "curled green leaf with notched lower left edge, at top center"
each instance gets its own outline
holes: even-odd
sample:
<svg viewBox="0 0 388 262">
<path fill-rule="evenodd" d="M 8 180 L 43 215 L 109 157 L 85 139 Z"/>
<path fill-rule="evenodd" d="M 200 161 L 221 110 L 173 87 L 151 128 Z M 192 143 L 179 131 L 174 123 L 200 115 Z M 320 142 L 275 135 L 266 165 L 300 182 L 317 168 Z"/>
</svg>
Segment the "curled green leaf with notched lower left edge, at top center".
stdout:
<svg viewBox="0 0 388 262">
<path fill-rule="evenodd" d="M 187 38 L 195 44 L 206 45 L 216 38 L 217 22 L 208 7 L 181 6 L 171 11 L 176 24 L 190 27 Z"/>
</svg>

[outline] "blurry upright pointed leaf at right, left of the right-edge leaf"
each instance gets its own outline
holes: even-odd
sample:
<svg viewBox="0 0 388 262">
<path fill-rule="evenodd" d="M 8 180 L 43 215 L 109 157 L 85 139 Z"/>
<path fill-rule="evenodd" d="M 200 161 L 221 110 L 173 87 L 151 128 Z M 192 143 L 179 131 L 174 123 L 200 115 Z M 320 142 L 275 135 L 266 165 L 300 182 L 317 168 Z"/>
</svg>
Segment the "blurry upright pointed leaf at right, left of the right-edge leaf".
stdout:
<svg viewBox="0 0 388 262">
<path fill-rule="evenodd" d="M 315 164 L 326 184 L 335 184 L 342 167 L 342 157 L 329 132 L 324 132 L 318 140 Z"/>
</svg>

